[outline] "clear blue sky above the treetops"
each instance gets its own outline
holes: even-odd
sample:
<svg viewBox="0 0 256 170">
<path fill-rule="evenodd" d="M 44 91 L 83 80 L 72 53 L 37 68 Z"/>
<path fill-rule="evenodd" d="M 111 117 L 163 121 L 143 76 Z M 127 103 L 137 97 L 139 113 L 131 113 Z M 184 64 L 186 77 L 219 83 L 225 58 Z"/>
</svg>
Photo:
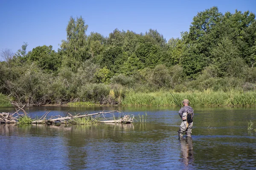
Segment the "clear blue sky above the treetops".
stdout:
<svg viewBox="0 0 256 170">
<path fill-rule="evenodd" d="M 87 35 L 152 28 L 168 41 L 189 31 L 193 17 L 212 6 L 222 13 L 237 9 L 256 14 L 256 0 L 0 0 L 0 50 L 17 52 L 27 42 L 28 51 L 42 45 L 57 51 L 66 40 L 70 16 L 84 18 Z"/>
</svg>

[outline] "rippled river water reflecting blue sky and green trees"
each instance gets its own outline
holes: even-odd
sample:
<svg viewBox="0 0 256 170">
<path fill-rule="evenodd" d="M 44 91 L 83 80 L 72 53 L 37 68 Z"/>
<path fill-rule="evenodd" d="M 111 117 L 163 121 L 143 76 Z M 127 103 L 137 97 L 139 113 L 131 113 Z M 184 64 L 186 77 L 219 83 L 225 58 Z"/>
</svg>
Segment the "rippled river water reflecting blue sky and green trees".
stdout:
<svg viewBox="0 0 256 170">
<path fill-rule="evenodd" d="M 179 108 L 120 107 L 131 125 L 0 125 L 0 169 L 256 169 L 256 108 L 198 107 L 192 138 L 178 139 Z M 115 107 L 26 108 L 32 117 Z M 0 108 L 0 112 L 14 112 Z M 145 117 L 144 117 L 145 120 Z"/>
</svg>

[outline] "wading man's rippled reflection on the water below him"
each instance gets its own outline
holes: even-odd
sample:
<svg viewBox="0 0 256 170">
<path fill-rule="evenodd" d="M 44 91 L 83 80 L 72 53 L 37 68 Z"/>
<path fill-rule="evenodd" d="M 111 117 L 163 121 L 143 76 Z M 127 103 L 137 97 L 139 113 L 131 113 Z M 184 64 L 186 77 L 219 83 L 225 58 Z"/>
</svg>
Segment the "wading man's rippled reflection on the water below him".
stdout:
<svg viewBox="0 0 256 170">
<path fill-rule="evenodd" d="M 192 138 L 181 138 L 180 147 L 182 162 L 187 168 L 194 162 Z"/>
</svg>

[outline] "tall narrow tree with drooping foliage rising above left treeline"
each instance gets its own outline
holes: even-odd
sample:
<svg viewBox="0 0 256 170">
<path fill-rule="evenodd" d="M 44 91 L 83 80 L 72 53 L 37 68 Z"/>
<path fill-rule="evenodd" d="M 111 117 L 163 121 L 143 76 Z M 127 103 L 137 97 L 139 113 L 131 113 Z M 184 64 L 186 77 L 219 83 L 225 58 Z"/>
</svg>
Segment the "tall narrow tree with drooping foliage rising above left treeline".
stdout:
<svg viewBox="0 0 256 170">
<path fill-rule="evenodd" d="M 67 40 L 62 40 L 61 50 L 64 51 L 62 64 L 72 68 L 73 71 L 79 67 L 80 63 L 87 59 L 87 41 L 86 31 L 88 25 L 85 24 L 84 19 L 80 17 L 70 17 L 67 25 Z"/>
</svg>

